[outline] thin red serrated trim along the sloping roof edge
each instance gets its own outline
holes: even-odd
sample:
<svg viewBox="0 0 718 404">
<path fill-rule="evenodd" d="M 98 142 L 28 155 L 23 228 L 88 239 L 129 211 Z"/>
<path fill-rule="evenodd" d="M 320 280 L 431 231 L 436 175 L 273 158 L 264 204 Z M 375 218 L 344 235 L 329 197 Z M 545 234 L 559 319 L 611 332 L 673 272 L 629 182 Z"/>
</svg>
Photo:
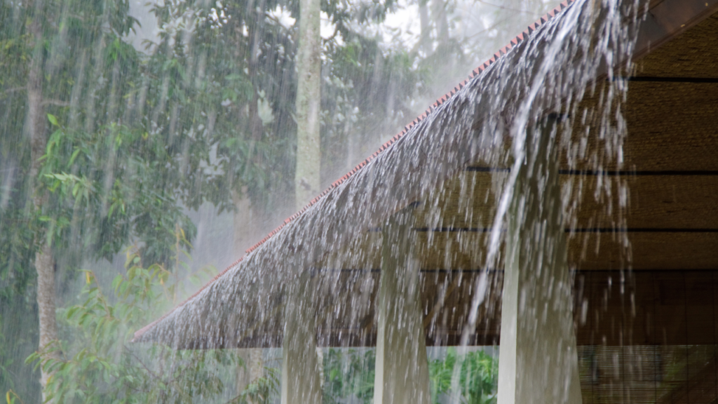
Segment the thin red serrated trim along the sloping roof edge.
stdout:
<svg viewBox="0 0 718 404">
<path fill-rule="evenodd" d="M 561 12 L 563 9 L 567 8 L 567 7 L 569 6 L 569 4 L 574 3 L 574 1 L 576 1 L 576 0 L 563 1 L 559 6 L 556 6 L 553 10 L 551 10 L 549 13 L 547 13 L 546 15 L 544 15 L 544 17 L 541 17 L 541 19 L 538 19 L 538 21 L 536 21 L 536 22 L 534 22 L 533 24 L 529 25 L 529 26 L 528 26 L 528 29 L 524 30 L 523 33 L 521 33 L 521 34 L 517 35 L 515 38 L 513 38 L 513 40 L 511 40 L 508 45 L 506 45 L 505 47 L 501 48 L 501 49 L 499 50 L 499 52 L 496 52 L 496 53 L 494 54 L 493 58 L 490 58 L 489 60 L 487 60 L 486 62 L 484 62 L 482 65 L 480 65 L 478 68 L 474 69 L 474 70 L 472 71 L 472 73 L 470 73 L 469 78 L 467 78 L 465 81 L 463 81 L 462 83 L 460 83 L 460 85 L 457 86 L 457 87 L 455 87 L 454 90 L 449 91 L 449 93 L 446 93 L 446 94 L 444 94 L 444 96 L 440 97 L 436 102 L 434 102 L 434 104 L 432 104 L 431 107 L 429 107 L 429 109 L 426 109 L 426 112 L 424 112 L 424 114 L 421 114 L 419 117 L 417 117 L 416 119 L 414 119 L 414 121 L 411 121 L 411 124 L 406 125 L 406 127 L 404 127 L 404 130 L 403 130 L 403 131 L 401 131 L 400 133 L 394 135 L 394 137 L 392 137 L 388 142 L 382 144 L 381 147 L 379 147 L 379 150 L 377 150 L 376 152 L 374 152 L 373 155 L 371 155 L 371 156 L 368 157 L 366 160 L 364 160 L 363 162 L 361 162 L 359 165 L 357 165 L 356 167 L 354 167 L 353 170 L 351 170 L 349 173 L 345 174 L 342 178 L 339 178 L 338 180 L 336 180 L 335 182 L 333 182 L 332 185 L 330 185 L 329 188 L 327 188 L 324 192 L 322 192 L 322 193 L 321 193 L 319 196 L 317 196 L 316 198 L 312 199 L 312 201 L 310 201 L 306 206 L 304 206 L 304 208 L 300 209 L 297 213 L 293 214 L 292 216 L 289 216 L 289 218 L 284 219 L 284 223 L 283 223 L 283 224 L 279 225 L 279 227 L 277 227 L 276 229 L 272 230 L 269 234 L 266 235 L 266 237 L 264 237 L 264 239 L 261 239 L 260 242 L 258 242 L 257 244 L 254 244 L 252 247 L 249 247 L 249 248 L 245 251 L 246 254 L 243 255 L 239 260 L 236 260 L 235 262 L 233 262 L 232 265 L 226 267 L 225 270 L 223 270 L 222 272 L 220 272 L 220 273 L 218 273 L 217 275 L 215 275 L 215 277 L 213 277 L 212 280 L 210 280 L 208 283 L 206 283 L 204 286 L 202 286 L 202 288 L 200 288 L 200 290 L 197 290 L 196 293 L 194 293 L 193 295 L 191 295 L 189 298 L 187 298 L 185 301 L 183 301 L 182 303 L 180 303 L 179 305 L 177 305 L 177 306 L 176 306 L 175 308 L 173 308 L 172 310 L 168 311 L 167 313 L 164 313 L 164 315 L 163 315 L 162 317 L 157 318 L 157 320 L 152 321 L 152 322 L 149 323 L 148 325 L 146 325 L 146 326 L 144 326 L 143 328 L 141 328 L 141 329 L 139 329 L 138 331 L 136 331 L 135 334 L 134 334 L 134 339 L 139 338 L 142 334 L 144 334 L 146 331 L 149 331 L 149 329 L 151 329 L 151 328 L 152 328 L 153 326 L 155 326 L 157 323 L 159 323 L 160 321 L 164 320 L 164 318 L 167 318 L 167 316 L 169 316 L 171 313 L 173 313 L 175 310 L 177 310 L 177 308 L 180 308 L 180 307 L 184 306 L 185 303 L 187 303 L 188 301 L 190 301 L 190 300 L 192 300 L 193 298 L 197 297 L 197 295 L 199 295 L 200 293 L 202 293 L 202 290 L 205 290 L 205 289 L 208 288 L 210 285 L 212 285 L 212 284 L 215 282 L 215 280 L 218 280 L 220 277 L 222 277 L 223 275 L 225 275 L 225 273 L 227 273 L 231 268 L 236 267 L 236 265 L 238 265 L 240 262 L 242 262 L 242 260 L 244 260 L 244 258 L 245 258 L 248 254 L 250 254 L 251 252 L 253 252 L 255 249 L 257 249 L 257 248 L 258 248 L 259 246 L 261 246 L 262 244 L 264 244 L 267 240 L 269 240 L 271 237 L 273 237 L 274 234 L 279 233 L 279 231 L 280 231 L 281 229 L 283 229 L 284 226 L 286 226 L 287 224 L 289 224 L 291 221 L 294 221 L 294 219 L 297 219 L 297 217 L 299 217 L 300 215 L 302 215 L 302 214 L 304 213 L 304 211 L 307 211 L 311 206 L 313 206 L 315 203 L 317 203 L 318 201 L 320 201 L 320 199 L 321 199 L 323 196 L 325 196 L 327 193 L 329 193 L 332 189 L 337 188 L 337 186 L 339 186 L 339 185 L 341 185 L 342 183 L 344 183 L 345 180 L 348 180 L 348 179 L 349 179 L 352 175 L 354 175 L 358 170 L 360 170 L 362 167 L 364 167 L 365 165 L 367 165 L 368 162 L 370 162 L 371 160 L 373 160 L 375 157 L 377 157 L 377 156 L 378 156 L 381 152 L 383 152 L 384 150 L 388 149 L 392 144 L 396 143 L 396 141 L 397 141 L 398 139 L 401 139 L 401 137 L 403 137 L 404 134 L 406 134 L 406 132 L 409 132 L 409 129 L 411 129 L 412 127 L 415 127 L 416 124 L 419 124 L 419 122 L 423 121 L 423 120 L 426 118 L 426 116 L 428 116 L 429 114 L 431 114 L 431 112 L 432 112 L 437 106 L 439 106 L 439 105 L 441 105 L 441 104 L 444 104 L 444 102 L 446 102 L 446 101 L 447 101 L 449 98 L 451 98 L 455 93 L 457 93 L 457 91 L 458 91 L 457 88 L 463 88 L 463 86 L 464 86 L 466 83 L 468 83 L 471 78 L 474 78 L 476 75 L 479 75 L 480 73 L 482 73 L 484 70 L 486 70 L 486 68 L 488 68 L 490 65 L 492 65 L 493 63 L 495 63 L 495 61 L 498 60 L 498 58 L 500 58 L 502 55 L 505 55 L 505 54 L 513 47 L 513 46 L 511 46 L 512 43 L 516 45 L 516 44 L 518 44 L 518 42 L 522 42 L 524 39 L 527 39 L 527 38 L 528 38 L 528 35 L 531 35 L 531 33 L 532 33 L 533 31 L 536 31 L 536 29 L 538 29 L 538 27 L 540 27 L 541 25 L 543 25 L 543 24 L 545 24 L 546 22 L 548 22 L 549 19 L 551 19 L 551 18 L 553 18 L 553 17 L 556 17 L 556 15 L 559 14 L 559 12 Z M 133 341 L 134 341 L 134 339 L 133 339 Z"/>
</svg>

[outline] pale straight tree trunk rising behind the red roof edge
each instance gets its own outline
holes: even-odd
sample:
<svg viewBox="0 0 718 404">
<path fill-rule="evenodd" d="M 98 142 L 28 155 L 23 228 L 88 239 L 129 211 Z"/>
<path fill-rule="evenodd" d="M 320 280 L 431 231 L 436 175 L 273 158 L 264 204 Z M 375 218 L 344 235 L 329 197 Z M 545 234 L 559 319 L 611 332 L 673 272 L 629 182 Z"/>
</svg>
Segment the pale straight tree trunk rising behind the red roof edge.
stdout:
<svg viewBox="0 0 718 404">
<path fill-rule="evenodd" d="M 294 175 L 297 209 L 320 193 L 321 41 L 320 1 L 301 0 L 297 55 L 297 171 Z"/>
</svg>

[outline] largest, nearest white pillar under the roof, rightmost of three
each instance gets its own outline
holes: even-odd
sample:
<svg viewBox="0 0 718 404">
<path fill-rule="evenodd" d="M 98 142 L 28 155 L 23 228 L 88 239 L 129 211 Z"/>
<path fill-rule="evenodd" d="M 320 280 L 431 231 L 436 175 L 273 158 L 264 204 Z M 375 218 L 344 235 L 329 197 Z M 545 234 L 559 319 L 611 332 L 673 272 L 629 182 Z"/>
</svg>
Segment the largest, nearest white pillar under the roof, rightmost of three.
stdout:
<svg viewBox="0 0 718 404">
<path fill-rule="evenodd" d="M 580 404 L 556 121 L 529 132 L 508 212 L 498 404 Z"/>
</svg>

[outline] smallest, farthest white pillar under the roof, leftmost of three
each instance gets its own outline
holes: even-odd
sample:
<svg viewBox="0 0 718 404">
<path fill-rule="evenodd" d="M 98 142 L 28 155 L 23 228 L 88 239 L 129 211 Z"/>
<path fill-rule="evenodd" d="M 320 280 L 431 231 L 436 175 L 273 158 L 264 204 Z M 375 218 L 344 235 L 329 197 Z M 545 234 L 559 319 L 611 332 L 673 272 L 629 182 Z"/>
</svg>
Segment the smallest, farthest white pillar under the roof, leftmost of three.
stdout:
<svg viewBox="0 0 718 404">
<path fill-rule="evenodd" d="M 320 363 L 312 279 L 301 275 L 290 288 L 284 309 L 284 342 L 281 345 L 281 404 L 322 403 Z"/>
</svg>

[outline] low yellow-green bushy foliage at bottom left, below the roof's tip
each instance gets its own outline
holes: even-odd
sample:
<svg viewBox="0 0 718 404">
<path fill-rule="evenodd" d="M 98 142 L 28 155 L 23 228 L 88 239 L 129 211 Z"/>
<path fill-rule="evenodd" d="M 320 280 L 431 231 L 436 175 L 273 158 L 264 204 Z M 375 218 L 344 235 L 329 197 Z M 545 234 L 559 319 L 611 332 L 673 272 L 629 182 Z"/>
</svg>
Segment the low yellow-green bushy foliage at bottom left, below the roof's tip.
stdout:
<svg viewBox="0 0 718 404">
<path fill-rule="evenodd" d="M 181 236 L 178 236 L 181 237 Z M 67 339 L 34 362 L 55 370 L 48 383 L 48 398 L 55 403 L 253 403 L 276 391 L 276 373 L 257 380 L 241 395 L 228 380 L 243 366 L 233 350 L 175 351 L 159 344 L 131 344 L 134 331 L 159 311 L 171 307 L 173 291 L 185 279 L 174 277 L 162 265 L 144 267 L 136 249 L 127 254 L 126 275 L 118 275 L 108 295 L 92 271 L 84 271 L 84 300 L 63 309 Z M 206 280 L 200 278 L 197 282 Z M 60 359 L 50 356 L 60 352 Z"/>
</svg>

